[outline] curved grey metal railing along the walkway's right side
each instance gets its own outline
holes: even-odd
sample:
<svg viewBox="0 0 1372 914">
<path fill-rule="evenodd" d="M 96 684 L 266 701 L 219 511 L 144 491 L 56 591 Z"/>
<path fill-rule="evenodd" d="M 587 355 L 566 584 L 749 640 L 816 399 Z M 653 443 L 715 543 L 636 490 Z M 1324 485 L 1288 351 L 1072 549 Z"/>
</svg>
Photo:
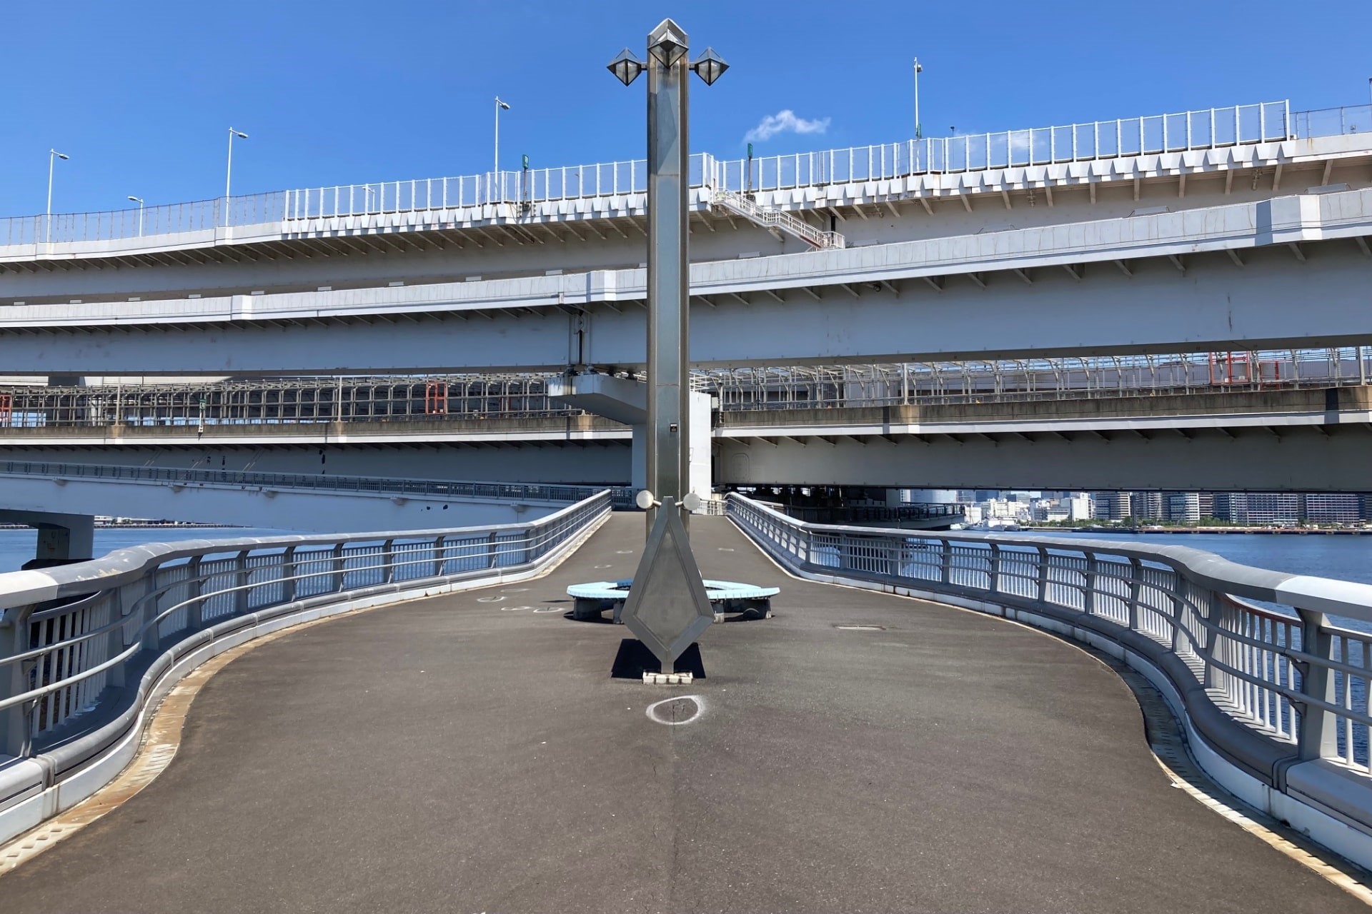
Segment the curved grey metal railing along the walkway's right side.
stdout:
<svg viewBox="0 0 1372 914">
<path fill-rule="evenodd" d="M 792 570 L 1028 610 L 1124 644 L 1168 676 L 1207 740 L 1273 787 L 1314 759 L 1369 784 L 1372 626 L 1350 628 L 1372 622 L 1369 585 L 1184 547 L 811 525 L 737 493 L 726 510 Z"/>
</svg>

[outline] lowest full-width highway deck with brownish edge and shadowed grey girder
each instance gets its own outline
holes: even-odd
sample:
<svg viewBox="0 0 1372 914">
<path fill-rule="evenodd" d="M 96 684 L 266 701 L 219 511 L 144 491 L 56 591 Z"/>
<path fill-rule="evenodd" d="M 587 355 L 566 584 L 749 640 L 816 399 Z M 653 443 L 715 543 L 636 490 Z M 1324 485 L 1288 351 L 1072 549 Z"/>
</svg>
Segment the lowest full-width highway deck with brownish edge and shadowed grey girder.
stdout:
<svg viewBox="0 0 1372 914">
<path fill-rule="evenodd" d="M 720 486 L 1361 492 L 1372 489 L 1364 459 L 1372 445 L 1372 386 L 1358 380 L 1356 374 L 1308 378 L 1305 386 L 1268 381 L 1266 389 L 1264 382 L 1190 392 L 1118 389 L 1104 392 L 1109 396 L 1100 391 L 916 395 L 906 404 L 897 392 L 897 402 L 885 406 L 836 400 L 819 407 L 790 402 L 737 408 L 744 404 L 735 403 L 713 412 L 713 481 Z M 727 399 L 740 392 L 720 393 Z M 853 391 L 852 399 L 871 393 Z M 192 403 L 192 415 L 178 415 L 172 425 L 85 419 L 10 428 L 0 440 L 0 459 L 317 480 L 342 474 L 627 485 L 632 473 L 631 429 L 584 414 L 236 419 L 198 426 L 191 423 L 193 410 Z"/>
</svg>

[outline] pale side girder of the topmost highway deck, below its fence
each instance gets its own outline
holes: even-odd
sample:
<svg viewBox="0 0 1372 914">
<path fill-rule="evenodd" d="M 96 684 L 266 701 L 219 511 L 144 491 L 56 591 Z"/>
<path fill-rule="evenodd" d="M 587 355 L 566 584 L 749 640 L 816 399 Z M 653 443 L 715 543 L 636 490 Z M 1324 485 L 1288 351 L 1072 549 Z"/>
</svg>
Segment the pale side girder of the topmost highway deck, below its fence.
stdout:
<svg viewBox="0 0 1372 914">
<path fill-rule="evenodd" d="M 1019 227 L 1259 200 L 1339 178 L 1365 178 L 1362 134 L 1239 144 L 1185 152 L 760 189 L 766 207 L 829 227 L 848 219 L 853 244 L 975 233 L 988 212 Z M 1238 175 L 1238 180 L 1236 180 Z M 949 206 L 951 204 L 951 206 Z M 473 273 L 631 266 L 642 260 L 642 193 L 399 212 L 285 218 L 106 241 L 0 247 L 0 299 L 55 301 L 100 295 L 166 297 L 251 289 L 309 291 L 439 282 Z M 691 190 L 696 259 L 763 255 L 799 245 L 746 221 L 720 219 L 708 188 Z M 914 218 L 904 218 L 910 217 Z M 716 225 L 718 222 L 718 225 Z M 637 251 L 637 254 L 635 254 Z M 69 264 L 80 269 L 70 270 Z M 546 264 L 546 266 L 545 266 Z M 54 267 L 60 267 L 54 273 Z"/>
</svg>

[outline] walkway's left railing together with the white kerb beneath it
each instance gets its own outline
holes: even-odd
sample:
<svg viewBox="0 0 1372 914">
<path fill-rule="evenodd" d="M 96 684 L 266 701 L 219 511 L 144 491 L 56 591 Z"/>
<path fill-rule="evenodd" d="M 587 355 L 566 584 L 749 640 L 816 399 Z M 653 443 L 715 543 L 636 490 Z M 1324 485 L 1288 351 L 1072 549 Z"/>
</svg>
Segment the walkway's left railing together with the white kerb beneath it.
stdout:
<svg viewBox="0 0 1372 914">
<path fill-rule="evenodd" d="M 259 634 L 536 577 L 609 517 L 595 493 L 530 523 L 154 543 L 0 574 L 0 843 L 133 756 L 185 673 Z"/>
</svg>

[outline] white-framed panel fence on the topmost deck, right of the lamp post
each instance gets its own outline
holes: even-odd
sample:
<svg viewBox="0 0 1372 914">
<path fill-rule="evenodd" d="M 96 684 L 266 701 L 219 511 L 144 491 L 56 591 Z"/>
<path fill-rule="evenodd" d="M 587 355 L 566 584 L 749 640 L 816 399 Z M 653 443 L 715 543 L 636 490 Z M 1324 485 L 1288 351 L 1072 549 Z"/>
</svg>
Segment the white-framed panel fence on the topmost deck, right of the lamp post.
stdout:
<svg viewBox="0 0 1372 914">
<path fill-rule="evenodd" d="M 1309 123 L 1309 121 L 1308 121 Z M 1056 127 L 997 130 L 716 162 L 716 186 L 746 193 L 918 174 L 1091 162 L 1291 138 L 1290 101 L 1264 101 Z M 1331 129 L 1316 119 L 1313 126 Z"/>
</svg>

